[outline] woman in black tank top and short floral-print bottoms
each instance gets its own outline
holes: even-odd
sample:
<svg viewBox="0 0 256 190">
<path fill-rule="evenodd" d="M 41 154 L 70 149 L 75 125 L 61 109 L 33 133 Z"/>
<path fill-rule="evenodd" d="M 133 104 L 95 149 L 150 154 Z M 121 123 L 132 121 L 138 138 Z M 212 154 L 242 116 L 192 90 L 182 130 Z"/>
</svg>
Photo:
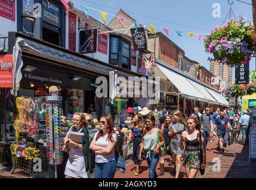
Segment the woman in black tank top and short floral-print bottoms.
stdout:
<svg viewBox="0 0 256 190">
<path fill-rule="evenodd" d="M 183 166 L 187 178 L 195 178 L 199 169 L 205 169 L 205 135 L 196 116 L 187 119 L 188 129 L 181 134 L 180 148 L 185 148 Z M 201 154 L 202 149 L 202 154 Z"/>
</svg>

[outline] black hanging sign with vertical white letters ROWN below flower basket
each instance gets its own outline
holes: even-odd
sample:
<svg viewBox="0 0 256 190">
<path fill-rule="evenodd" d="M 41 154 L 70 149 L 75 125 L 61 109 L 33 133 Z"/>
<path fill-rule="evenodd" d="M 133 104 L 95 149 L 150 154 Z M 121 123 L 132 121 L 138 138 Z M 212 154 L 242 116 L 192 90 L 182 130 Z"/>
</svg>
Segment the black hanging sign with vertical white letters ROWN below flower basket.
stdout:
<svg viewBox="0 0 256 190">
<path fill-rule="evenodd" d="M 235 68 L 235 84 L 249 83 L 249 63 L 241 64 Z"/>
</svg>

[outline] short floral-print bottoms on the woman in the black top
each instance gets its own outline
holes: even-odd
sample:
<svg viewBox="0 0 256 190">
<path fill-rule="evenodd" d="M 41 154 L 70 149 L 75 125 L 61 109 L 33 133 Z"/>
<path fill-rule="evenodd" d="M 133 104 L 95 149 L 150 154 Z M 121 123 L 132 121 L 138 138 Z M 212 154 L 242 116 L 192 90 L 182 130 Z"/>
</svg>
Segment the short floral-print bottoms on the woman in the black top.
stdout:
<svg viewBox="0 0 256 190">
<path fill-rule="evenodd" d="M 190 169 L 200 168 L 200 151 L 186 151 L 183 166 L 189 167 Z"/>
</svg>

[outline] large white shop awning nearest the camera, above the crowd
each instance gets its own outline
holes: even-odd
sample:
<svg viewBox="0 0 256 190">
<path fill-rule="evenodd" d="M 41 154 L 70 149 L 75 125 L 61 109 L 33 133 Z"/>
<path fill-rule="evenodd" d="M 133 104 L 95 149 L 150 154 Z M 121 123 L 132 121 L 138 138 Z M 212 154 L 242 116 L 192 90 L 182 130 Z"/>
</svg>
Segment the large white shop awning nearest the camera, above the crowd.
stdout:
<svg viewBox="0 0 256 190">
<path fill-rule="evenodd" d="M 189 82 L 189 80 L 187 80 L 186 77 L 166 68 L 165 66 L 160 64 L 156 65 L 165 76 L 161 76 L 161 72 L 158 72 L 158 75 L 160 75 L 161 78 L 167 77 L 175 85 L 175 87 L 178 88 L 182 96 L 186 97 L 187 99 L 208 102 L 208 100 L 205 99 L 205 97 Z"/>
</svg>

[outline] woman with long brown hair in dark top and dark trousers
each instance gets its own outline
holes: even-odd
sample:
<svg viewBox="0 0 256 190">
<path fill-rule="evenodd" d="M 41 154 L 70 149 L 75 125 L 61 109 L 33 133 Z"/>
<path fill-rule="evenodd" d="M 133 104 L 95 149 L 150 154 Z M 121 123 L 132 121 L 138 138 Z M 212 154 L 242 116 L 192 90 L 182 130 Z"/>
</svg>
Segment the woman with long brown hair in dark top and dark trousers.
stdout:
<svg viewBox="0 0 256 190">
<path fill-rule="evenodd" d="M 134 134 L 133 138 L 133 162 L 136 165 L 135 173 L 134 175 L 137 176 L 139 173 L 141 173 L 141 160 L 138 159 L 138 154 L 140 154 L 140 143 L 142 141 L 144 132 L 146 131 L 146 128 L 143 125 L 143 119 L 141 114 L 137 114 L 133 118 L 133 123 L 131 124 L 131 132 L 129 133 L 128 137 L 128 144 L 131 143 L 132 140 L 132 134 Z"/>
</svg>

